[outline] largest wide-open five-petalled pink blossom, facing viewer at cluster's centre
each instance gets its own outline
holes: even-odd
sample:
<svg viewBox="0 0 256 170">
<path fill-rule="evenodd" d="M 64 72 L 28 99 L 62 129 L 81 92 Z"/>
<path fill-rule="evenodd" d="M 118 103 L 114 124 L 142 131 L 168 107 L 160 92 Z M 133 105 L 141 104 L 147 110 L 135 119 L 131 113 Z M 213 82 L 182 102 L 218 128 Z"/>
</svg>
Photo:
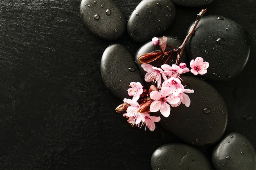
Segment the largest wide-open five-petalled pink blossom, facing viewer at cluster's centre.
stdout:
<svg viewBox="0 0 256 170">
<path fill-rule="evenodd" d="M 171 106 L 169 104 L 177 104 L 180 98 L 170 94 L 169 87 L 162 87 L 160 93 L 152 91 L 150 98 L 155 100 L 149 107 L 150 112 L 157 112 L 160 110 L 164 117 L 168 117 L 171 113 Z"/>
</svg>

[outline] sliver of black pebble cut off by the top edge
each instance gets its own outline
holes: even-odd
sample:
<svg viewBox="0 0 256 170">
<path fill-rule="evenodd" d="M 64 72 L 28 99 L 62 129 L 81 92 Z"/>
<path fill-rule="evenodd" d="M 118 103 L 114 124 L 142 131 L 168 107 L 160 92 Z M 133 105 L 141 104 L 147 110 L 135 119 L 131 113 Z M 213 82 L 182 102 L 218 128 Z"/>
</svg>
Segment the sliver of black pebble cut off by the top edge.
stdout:
<svg viewBox="0 0 256 170">
<path fill-rule="evenodd" d="M 213 0 L 172 0 L 172 2 L 183 7 L 202 7 L 210 4 Z"/>
</svg>

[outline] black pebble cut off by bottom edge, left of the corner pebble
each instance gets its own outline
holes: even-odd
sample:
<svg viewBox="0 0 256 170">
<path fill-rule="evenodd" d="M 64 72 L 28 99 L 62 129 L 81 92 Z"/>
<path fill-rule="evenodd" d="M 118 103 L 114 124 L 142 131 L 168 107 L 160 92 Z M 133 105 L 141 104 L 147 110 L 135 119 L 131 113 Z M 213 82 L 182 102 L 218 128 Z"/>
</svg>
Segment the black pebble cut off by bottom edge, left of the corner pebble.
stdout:
<svg viewBox="0 0 256 170">
<path fill-rule="evenodd" d="M 198 149 L 179 143 L 165 144 L 151 156 L 152 170 L 211 170 L 208 159 Z"/>
</svg>

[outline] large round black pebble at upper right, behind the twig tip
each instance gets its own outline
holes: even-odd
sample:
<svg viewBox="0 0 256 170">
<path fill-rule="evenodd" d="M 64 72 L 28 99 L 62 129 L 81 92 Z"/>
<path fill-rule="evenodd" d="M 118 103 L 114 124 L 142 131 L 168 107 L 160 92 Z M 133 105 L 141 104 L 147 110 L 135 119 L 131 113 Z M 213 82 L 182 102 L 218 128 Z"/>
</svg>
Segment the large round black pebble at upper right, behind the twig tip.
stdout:
<svg viewBox="0 0 256 170">
<path fill-rule="evenodd" d="M 190 29 L 189 29 L 190 30 Z M 223 16 L 204 16 L 186 45 L 189 59 L 198 56 L 209 62 L 209 81 L 236 77 L 245 67 L 250 53 L 247 31 L 236 22 Z"/>
</svg>

